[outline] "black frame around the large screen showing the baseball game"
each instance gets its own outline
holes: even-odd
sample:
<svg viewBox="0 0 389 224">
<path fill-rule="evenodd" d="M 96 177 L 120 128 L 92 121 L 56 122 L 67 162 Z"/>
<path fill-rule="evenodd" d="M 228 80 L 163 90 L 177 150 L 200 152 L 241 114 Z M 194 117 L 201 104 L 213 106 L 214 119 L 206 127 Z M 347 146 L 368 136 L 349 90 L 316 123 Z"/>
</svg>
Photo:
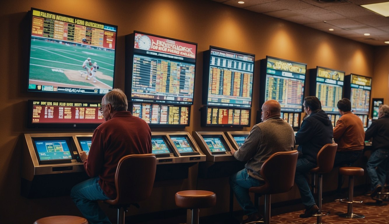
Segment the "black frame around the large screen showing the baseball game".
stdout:
<svg viewBox="0 0 389 224">
<path fill-rule="evenodd" d="M 98 22 L 98 21 L 93 21 L 93 20 L 90 20 L 90 19 L 84 19 L 84 18 L 80 18 L 80 17 L 76 17 L 76 16 L 70 16 L 70 15 L 65 15 L 65 14 L 61 14 L 61 13 L 57 13 L 57 12 L 51 12 L 51 11 L 47 11 L 47 10 L 43 10 L 43 9 L 37 9 L 37 8 L 31 8 L 31 10 L 28 12 L 29 13 L 29 46 L 28 46 L 28 59 L 27 59 L 27 77 L 26 77 L 26 92 L 27 93 L 34 93 L 34 94 L 43 94 L 43 96 L 51 96 L 51 94 L 54 94 L 53 96 L 54 97 L 61 97 L 61 94 L 62 96 L 65 96 L 65 97 L 69 97 L 70 95 L 75 95 L 75 96 L 80 96 L 80 98 L 85 98 L 85 99 L 89 99 L 91 96 L 99 96 L 101 98 L 101 96 L 103 96 L 105 93 L 69 93 L 69 92 L 58 92 L 58 91 L 36 91 L 36 90 L 30 90 L 28 87 L 29 87 L 29 84 L 30 84 L 30 55 L 31 55 L 31 45 L 32 45 L 32 18 L 33 18 L 33 13 L 32 11 L 33 10 L 38 10 L 38 11 L 42 11 L 42 12 L 46 12 L 46 13 L 52 13 L 52 14 L 55 14 L 55 15 L 59 15 L 59 16 L 65 16 L 65 17 L 72 17 L 74 19 L 81 19 L 83 21 L 88 21 L 88 22 L 92 22 L 92 23 L 99 23 L 99 24 L 102 24 L 102 25 L 107 25 L 107 26 L 111 26 L 111 27 L 114 27 L 116 28 L 116 40 L 115 40 L 115 48 L 113 49 L 114 50 L 114 71 L 113 71 L 113 77 L 112 77 L 112 89 L 115 88 L 115 71 L 116 71 L 116 47 L 117 47 L 117 26 L 116 25 L 112 25 L 112 24 L 109 24 L 109 23 L 102 23 L 102 22 Z M 113 31 L 110 31 L 110 32 L 113 32 Z M 99 88 L 101 89 L 101 88 Z M 111 91 L 112 89 L 108 89 L 108 92 Z"/>
</svg>

